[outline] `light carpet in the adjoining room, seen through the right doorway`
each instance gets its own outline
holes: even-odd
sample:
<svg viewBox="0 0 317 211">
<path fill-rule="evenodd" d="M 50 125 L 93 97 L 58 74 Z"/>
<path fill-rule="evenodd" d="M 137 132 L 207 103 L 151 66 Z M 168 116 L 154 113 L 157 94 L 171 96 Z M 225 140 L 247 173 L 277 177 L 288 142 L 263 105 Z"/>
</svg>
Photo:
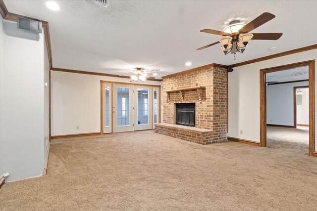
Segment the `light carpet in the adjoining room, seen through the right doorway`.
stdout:
<svg viewBox="0 0 317 211">
<path fill-rule="evenodd" d="M 266 132 L 267 147 L 309 154 L 308 127 L 267 127 Z"/>
</svg>

